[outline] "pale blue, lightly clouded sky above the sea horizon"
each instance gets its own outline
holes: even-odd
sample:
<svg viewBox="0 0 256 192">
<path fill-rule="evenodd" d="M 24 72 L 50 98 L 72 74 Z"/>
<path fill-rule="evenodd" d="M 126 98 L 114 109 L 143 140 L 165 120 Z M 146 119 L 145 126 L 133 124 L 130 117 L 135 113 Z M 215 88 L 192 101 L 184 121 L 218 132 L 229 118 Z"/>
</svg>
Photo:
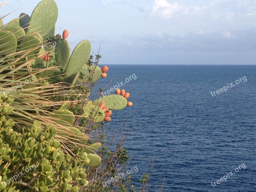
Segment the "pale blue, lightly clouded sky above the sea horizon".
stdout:
<svg viewBox="0 0 256 192">
<path fill-rule="evenodd" d="M 56 33 L 69 30 L 71 50 L 90 40 L 100 64 L 256 64 L 256 0 L 55 1 Z M 10 0 L 0 17 L 31 15 L 39 2 Z"/>
</svg>

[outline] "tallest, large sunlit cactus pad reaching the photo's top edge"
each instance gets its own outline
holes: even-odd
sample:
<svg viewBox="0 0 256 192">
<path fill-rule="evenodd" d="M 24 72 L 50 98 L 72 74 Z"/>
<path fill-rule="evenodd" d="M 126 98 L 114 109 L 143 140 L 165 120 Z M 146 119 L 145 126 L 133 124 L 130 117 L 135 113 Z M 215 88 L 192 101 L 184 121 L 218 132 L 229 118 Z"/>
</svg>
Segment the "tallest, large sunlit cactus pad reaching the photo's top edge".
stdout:
<svg viewBox="0 0 256 192">
<path fill-rule="evenodd" d="M 31 14 L 27 33 L 38 32 L 44 36 L 55 26 L 57 18 L 58 7 L 55 1 L 43 0 Z"/>
</svg>

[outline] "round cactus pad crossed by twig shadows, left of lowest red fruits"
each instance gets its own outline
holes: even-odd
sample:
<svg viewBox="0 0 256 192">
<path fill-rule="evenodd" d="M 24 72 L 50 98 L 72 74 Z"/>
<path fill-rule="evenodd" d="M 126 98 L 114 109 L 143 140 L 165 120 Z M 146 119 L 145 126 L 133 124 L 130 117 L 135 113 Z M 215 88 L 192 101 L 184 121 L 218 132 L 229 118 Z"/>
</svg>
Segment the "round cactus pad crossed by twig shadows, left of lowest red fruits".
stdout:
<svg viewBox="0 0 256 192">
<path fill-rule="evenodd" d="M 100 107 L 90 104 L 84 107 L 84 116 L 92 122 L 99 123 L 104 120 L 105 113 Z"/>
</svg>

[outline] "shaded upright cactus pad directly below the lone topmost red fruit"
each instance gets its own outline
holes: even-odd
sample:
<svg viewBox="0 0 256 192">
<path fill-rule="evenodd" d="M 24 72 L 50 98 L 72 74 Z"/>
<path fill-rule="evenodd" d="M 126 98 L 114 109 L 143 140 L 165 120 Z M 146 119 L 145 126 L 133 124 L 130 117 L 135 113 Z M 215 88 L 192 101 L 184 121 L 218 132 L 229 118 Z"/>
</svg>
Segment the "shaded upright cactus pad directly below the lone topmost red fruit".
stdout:
<svg viewBox="0 0 256 192">
<path fill-rule="evenodd" d="M 70 58 L 70 47 L 67 40 L 60 39 L 55 47 L 55 57 L 63 70 L 66 69 Z"/>
</svg>

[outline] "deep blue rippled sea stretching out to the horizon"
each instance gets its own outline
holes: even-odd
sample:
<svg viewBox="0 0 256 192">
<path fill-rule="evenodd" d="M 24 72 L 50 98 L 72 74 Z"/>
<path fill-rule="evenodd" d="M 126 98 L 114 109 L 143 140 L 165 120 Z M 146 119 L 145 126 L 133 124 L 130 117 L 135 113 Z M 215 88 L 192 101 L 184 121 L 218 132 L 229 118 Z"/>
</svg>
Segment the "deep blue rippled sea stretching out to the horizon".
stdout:
<svg viewBox="0 0 256 192">
<path fill-rule="evenodd" d="M 163 178 L 164 192 L 256 191 L 256 66 L 108 67 L 101 88 L 112 78 L 109 89 L 136 76 L 121 87 L 133 106 L 113 112 L 108 133 L 127 118 L 132 130 L 124 146 L 132 155 L 129 166 L 139 169 L 133 174 L 137 186 L 155 154 L 150 192 L 160 191 Z M 246 82 L 212 97 L 211 91 L 244 76 Z M 235 172 L 241 164 L 246 168 Z M 211 182 L 231 171 L 213 188 Z"/>
</svg>

